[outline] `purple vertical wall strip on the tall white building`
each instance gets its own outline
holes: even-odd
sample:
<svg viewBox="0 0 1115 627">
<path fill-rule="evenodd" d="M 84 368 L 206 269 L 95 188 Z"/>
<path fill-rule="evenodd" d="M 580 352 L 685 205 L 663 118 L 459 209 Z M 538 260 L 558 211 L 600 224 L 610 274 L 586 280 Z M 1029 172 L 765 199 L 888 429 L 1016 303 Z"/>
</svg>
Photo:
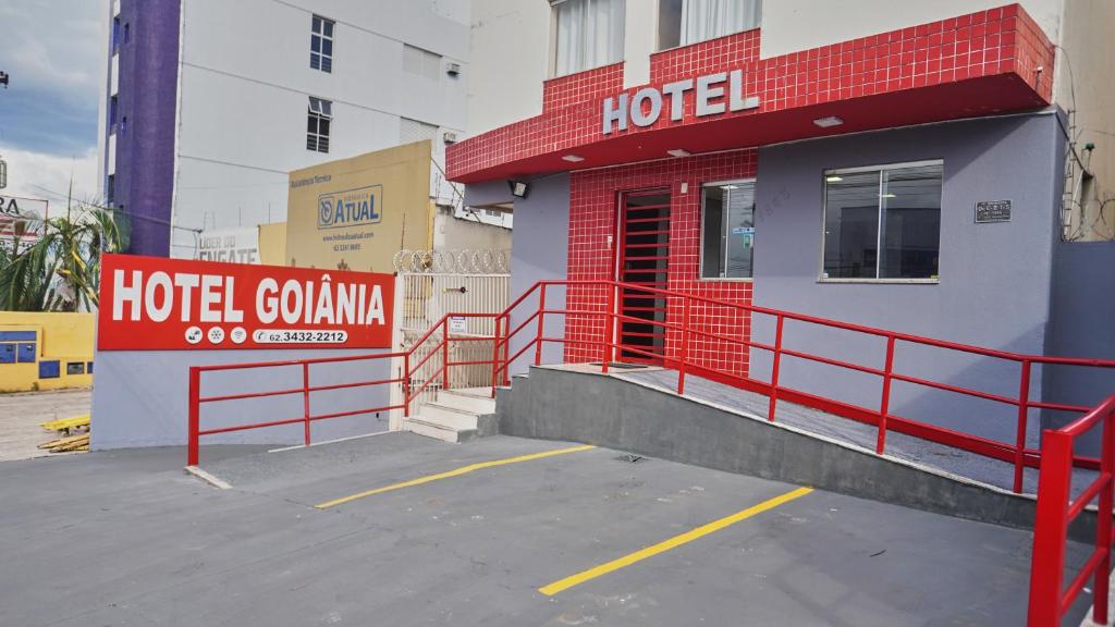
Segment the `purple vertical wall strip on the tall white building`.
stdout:
<svg viewBox="0 0 1115 627">
<path fill-rule="evenodd" d="M 136 254 L 169 252 L 181 9 L 182 0 L 120 2 L 115 203 Z"/>
</svg>

